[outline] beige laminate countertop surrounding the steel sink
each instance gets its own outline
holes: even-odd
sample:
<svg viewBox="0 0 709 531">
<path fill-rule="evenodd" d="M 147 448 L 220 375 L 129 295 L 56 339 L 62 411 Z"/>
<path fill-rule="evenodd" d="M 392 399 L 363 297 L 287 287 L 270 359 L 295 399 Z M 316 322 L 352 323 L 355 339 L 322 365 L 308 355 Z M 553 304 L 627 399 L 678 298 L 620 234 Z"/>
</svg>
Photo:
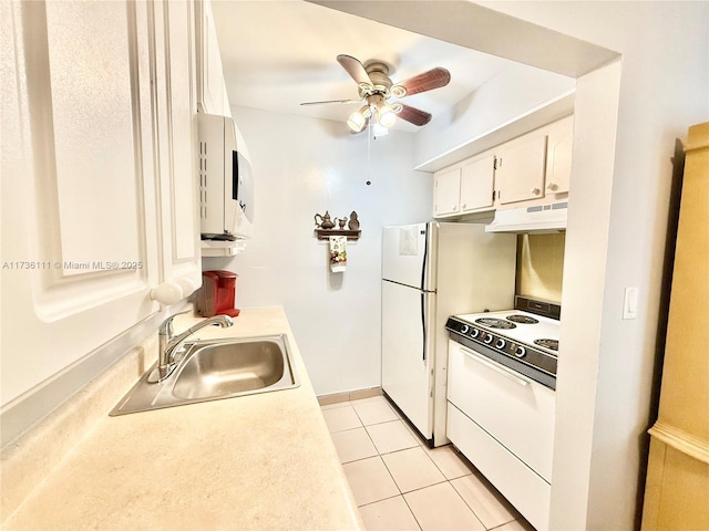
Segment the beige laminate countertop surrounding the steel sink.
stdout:
<svg viewBox="0 0 709 531">
<path fill-rule="evenodd" d="M 192 321 L 176 317 L 175 330 Z M 282 309 L 245 309 L 234 321 L 195 336 L 286 333 L 300 386 L 119 417 L 106 410 L 3 529 L 362 528 Z"/>
</svg>

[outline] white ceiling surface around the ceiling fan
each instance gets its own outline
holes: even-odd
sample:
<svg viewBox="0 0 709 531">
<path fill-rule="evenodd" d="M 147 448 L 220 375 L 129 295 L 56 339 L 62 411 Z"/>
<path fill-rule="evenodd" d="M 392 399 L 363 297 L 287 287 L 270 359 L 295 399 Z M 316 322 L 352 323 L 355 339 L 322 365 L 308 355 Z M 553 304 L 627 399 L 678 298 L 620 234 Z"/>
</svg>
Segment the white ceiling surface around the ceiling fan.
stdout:
<svg viewBox="0 0 709 531">
<path fill-rule="evenodd" d="M 448 86 L 404 98 L 433 114 L 452 107 L 511 61 L 411 33 L 304 0 L 213 0 L 224 76 L 232 105 L 342 123 L 356 104 L 301 106 L 302 102 L 357 100 L 357 85 L 336 58 L 379 59 L 403 81 L 434 66 L 451 72 Z M 415 132 L 401 119 L 394 128 Z"/>
</svg>

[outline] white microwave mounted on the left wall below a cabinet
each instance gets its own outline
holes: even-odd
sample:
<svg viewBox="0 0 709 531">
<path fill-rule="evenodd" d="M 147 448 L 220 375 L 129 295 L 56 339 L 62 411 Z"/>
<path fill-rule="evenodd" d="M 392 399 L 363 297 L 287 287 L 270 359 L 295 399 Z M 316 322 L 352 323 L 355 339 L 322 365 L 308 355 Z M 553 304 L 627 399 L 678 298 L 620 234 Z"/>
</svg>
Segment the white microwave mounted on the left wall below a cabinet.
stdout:
<svg viewBox="0 0 709 531">
<path fill-rule="evenodd" d="M 202 239 L 250 238 L 254 183 L 246 142 L 230 117 L 197 116 Z"/>
</svg>

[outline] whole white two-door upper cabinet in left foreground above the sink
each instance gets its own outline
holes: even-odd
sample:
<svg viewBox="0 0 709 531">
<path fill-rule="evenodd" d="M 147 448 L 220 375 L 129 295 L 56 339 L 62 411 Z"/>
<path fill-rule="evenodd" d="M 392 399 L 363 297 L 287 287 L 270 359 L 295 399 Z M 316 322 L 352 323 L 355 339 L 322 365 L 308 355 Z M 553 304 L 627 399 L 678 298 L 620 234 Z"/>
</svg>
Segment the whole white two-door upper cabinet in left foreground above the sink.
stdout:
<svg viewBox="0 0 709 531">
<path fill-rule="evenodd" d="M 192 2 L 3 11 L 6 404 L 155 313 L 152 288 L 186 296 L 201 261 Z"/>
</svg>

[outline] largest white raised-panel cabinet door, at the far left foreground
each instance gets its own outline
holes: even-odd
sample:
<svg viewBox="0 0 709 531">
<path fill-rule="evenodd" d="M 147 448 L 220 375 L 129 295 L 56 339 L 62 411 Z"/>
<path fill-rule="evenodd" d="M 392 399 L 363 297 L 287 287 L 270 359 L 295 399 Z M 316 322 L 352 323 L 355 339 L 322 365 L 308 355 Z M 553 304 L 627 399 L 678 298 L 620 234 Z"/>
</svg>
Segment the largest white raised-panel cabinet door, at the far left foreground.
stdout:
<svg viewBox="0 0 709 531">
<path fill-rule="evenodd" d="M 157 310 L 146 4 L 12 9 L 32 39 L 2 80 L 2 404 Z"/>
</svg>

